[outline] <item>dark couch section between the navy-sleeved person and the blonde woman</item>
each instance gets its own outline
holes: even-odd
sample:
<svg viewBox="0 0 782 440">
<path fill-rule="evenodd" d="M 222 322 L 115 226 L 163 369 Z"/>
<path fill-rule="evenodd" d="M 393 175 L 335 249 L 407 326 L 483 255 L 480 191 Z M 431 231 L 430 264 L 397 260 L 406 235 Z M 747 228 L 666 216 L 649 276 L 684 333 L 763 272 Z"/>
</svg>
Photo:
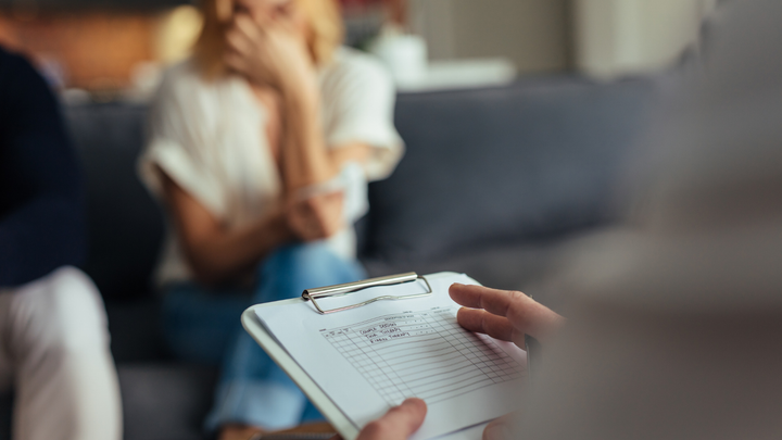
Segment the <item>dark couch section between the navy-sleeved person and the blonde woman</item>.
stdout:
<svg viewBox="0 0 782 440">
<path fill-rule="evenodd" d="M 87 187 L 89 256 L 84 269 L 108 298 L 150 291 L 163 217 L 136 177 L 146 105 L 105 103 L 65 109 Z"/>
</svg>

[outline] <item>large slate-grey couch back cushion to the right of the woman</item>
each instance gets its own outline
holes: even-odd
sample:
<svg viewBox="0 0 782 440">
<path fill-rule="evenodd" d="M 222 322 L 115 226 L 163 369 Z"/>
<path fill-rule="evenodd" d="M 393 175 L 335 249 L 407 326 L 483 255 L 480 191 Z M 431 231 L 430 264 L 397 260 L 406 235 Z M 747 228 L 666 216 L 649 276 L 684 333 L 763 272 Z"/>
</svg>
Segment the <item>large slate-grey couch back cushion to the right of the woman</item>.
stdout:
<svg viewBox="0 0 782 440">
<path fill-rule="evenodd" d="M 368 255 L 426 262 L 610 221 L 653 91 L 563 77 L 400 96 L 407 153 L 370 186 Z"/>
</svg>

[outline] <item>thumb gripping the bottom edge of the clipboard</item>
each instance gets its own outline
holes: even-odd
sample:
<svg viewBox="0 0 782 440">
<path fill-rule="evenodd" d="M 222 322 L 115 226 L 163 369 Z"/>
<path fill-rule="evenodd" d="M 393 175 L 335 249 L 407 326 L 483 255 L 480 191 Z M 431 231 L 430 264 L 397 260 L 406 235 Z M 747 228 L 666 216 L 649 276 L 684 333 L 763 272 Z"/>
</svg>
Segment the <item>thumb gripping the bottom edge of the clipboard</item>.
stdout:
<svg viewBox="0 0 782 440">
<path fill-rule="evenodd" d="M 420 399 L 407 399 L 384 416 L 369 423 L 356 440 L 405 440 L 424 424 L 427 407 Z"/>
</svg>

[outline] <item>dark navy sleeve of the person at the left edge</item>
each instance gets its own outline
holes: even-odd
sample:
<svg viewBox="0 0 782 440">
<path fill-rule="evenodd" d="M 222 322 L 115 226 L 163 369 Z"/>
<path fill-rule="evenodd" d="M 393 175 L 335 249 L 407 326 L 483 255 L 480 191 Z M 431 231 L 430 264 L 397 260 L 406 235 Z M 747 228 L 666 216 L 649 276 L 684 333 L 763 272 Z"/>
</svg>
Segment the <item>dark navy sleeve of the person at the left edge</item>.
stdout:
<svg viewBox="0 0 782 440">
<path fill-rule="evenodd" d="M 0 49 L 0 287 L 81 263 L 83 199 L 53 93 L 26 60 Z"/>
</svg>

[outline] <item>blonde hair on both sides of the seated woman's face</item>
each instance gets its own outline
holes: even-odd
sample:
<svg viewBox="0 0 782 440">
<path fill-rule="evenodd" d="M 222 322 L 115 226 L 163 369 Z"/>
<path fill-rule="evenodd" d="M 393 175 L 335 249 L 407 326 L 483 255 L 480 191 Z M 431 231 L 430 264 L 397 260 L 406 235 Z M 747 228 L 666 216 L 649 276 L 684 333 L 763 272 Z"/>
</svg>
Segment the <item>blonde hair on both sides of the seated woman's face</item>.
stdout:
<svg viewBox="0 0 782 440">
<path fill-rule="evenodd" d="M 331 61 L 335 50 L 342 43 L 344 27 L 336 0 L 293 0 L 304 12 L 310 27 L 307 45 L 316 65 Z M 202 0 L 203 28 L 195 41 L 194 56 L 206 78 L 226 73 L 223 63 L 225 32 L 234 17 L 234 0 Z"/>
</svg>

